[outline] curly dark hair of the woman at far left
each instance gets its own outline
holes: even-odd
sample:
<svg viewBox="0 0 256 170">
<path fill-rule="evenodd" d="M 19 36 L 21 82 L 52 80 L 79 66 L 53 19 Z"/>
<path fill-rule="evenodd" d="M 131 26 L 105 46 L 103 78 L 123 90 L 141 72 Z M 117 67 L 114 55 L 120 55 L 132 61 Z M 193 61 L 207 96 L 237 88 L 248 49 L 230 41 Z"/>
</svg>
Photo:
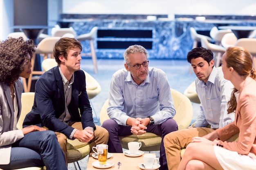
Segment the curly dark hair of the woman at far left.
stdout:
<svg viewBox="0 0 256 170">
<path fill-rule="evenodd" d="M 10 86 L 20 77 L 27 60 L 36 51 L 33 40 L 8 37 L 0 43 L 0 82 Z"/>
</svg>

